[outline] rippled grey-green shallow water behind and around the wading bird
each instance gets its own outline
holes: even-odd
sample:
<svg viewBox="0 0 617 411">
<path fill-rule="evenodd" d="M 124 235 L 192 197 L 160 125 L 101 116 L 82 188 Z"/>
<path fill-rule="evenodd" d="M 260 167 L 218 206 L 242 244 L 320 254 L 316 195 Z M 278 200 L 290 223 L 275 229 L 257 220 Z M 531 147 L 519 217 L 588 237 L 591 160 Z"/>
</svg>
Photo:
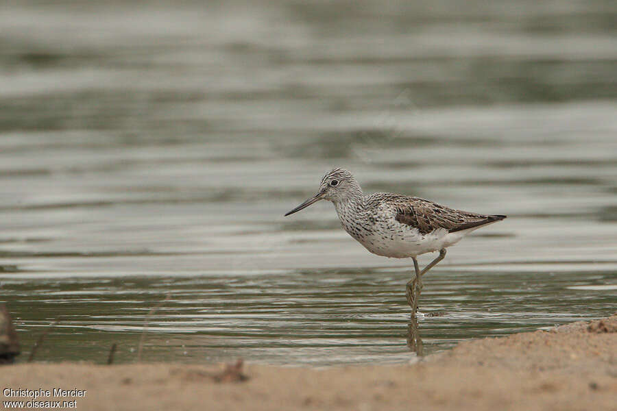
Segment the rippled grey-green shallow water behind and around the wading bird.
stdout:
<svg viewBox="0 0 617 411">
<path fill-rule="evenodd" d="M 613 2 L 268 4 L 0 16 L 0 301 L 26 355 L 60 319 L 39 360 L 134 361 L 169 295 L 144 360 L 413 358 L 409 261 L 328 203 L 282 217 L 332 166 L 509 215 L 427 274 L 426 353 L 616 310 Z"/>
</svg>

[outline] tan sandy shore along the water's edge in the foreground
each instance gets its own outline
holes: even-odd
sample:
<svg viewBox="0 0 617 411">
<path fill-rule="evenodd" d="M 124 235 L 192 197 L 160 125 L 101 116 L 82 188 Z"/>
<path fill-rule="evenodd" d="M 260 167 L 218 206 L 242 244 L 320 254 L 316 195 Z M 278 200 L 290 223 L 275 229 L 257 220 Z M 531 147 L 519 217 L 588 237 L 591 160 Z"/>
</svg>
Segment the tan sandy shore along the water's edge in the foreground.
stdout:
<svg viewBox="0 0 617 411">
<path fill-rule="evenodd" d="M 245 382 L 217 381 L 220 366 L 183 364 L 18 364 L 0 371 L 2 389 L 86 390 L 85 397 L 59 398 L 81 410 L 615 410 L 617 314 L 461 343 L 418 364 L 248 364 Z"/>
</svg>

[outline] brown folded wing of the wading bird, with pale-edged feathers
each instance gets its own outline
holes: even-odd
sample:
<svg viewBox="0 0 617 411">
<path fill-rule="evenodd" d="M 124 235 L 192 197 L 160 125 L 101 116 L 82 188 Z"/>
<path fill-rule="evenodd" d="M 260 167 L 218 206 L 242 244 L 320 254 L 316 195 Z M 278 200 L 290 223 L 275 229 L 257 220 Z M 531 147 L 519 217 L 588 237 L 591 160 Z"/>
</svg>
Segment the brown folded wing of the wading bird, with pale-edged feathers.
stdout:
<svg viewBox="0 0 617 411">
<path fill-rule="evenodd" d="M 418 228 L 422 234 L 428 234 L 439 228 L 457 232 L 506 218 L 500 215 L 483 215 L 455 210 L 418 197 L 404 197 L 400 200 L 394 201 L 396 221 Z"/>
</svg>

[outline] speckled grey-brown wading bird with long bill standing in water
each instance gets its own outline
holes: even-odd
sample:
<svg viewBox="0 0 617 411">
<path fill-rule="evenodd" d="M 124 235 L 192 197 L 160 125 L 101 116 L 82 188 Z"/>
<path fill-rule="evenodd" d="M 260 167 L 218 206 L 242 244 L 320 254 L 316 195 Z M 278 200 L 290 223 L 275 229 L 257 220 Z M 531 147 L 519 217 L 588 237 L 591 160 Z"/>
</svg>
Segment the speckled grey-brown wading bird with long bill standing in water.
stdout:
<svg viewBox="0 0 617 411">
<path fill-rule="evenodd" d="M 378 256 L 413 260 L 415 276 L 405 288 L 413 314 L 418 310 L 422 275 L 446 257 L 446 248 L 475 229 L 506 218 L 455 210 L 433 201 L 389 192 L 365 195 L 346 169 L 333 169 L 324 175 L 317 194 L 285 216 L 319 200 L 334 203 L 345 231 L 368 251 Z M 439 251 L 439 256 L 420 271 L 417 257 L 432 251 Z"/>
</svg>

